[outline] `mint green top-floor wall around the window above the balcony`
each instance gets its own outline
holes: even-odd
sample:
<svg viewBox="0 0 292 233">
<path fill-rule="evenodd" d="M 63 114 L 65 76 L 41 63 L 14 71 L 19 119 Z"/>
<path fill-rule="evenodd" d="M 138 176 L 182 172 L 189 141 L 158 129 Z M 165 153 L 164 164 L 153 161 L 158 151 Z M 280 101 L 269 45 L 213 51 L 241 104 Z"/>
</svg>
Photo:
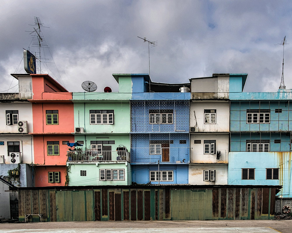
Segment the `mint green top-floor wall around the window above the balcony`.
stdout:
<svg viewBox="0 0 292 233">
<path fill-rule="evenodd" d="M 91 125 L 89 110 L 114 110 L 114 124 Z M 74 103 L 74 124 L 86 133 L 129 133 L 130 103 Z"/>
</svg>

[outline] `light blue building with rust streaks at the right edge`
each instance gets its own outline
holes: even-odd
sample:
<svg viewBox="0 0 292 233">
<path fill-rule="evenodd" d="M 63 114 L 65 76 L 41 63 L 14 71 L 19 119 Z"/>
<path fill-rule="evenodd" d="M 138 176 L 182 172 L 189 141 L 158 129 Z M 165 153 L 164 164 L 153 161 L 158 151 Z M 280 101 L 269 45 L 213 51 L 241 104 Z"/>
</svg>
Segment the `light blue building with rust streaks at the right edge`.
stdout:
<svg viewBox="0 0 292 233">
<path fill-rule="evenodd" d="M 278 207 L 291 204 L 292 89 L 229 98 L 228 184 L 283 185 Z"/>
</svg>

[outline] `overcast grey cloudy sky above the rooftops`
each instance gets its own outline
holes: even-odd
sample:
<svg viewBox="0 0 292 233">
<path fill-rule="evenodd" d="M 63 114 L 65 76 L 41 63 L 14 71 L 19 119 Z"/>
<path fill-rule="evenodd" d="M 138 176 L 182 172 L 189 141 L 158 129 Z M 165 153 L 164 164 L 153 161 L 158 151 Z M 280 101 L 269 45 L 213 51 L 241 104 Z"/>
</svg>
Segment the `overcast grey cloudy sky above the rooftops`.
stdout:
<svg viewBox="0 0 292 233">
<path fill-rule="evenodd" d="M 117 91 L 112 73 L 149 73 L 153 82 L 183 83 L 212 73 L 248 73 L 244 91 L 277 91 L 282 72 L 292 88 L 292 1 L 13 1 L 1 0 L 0 91 L 25 73 L 23 49 L 39 17 L 48 73 L 68 91 L 91 80 Z M 29 47 L 30 46 L 30 47 Z M 52 54 L 52 57 L 50 55 Z M 18 91 L 17 86 L 8 92 Z M 6 92 L 6 91 L 5 91 Z"/>
</svg>

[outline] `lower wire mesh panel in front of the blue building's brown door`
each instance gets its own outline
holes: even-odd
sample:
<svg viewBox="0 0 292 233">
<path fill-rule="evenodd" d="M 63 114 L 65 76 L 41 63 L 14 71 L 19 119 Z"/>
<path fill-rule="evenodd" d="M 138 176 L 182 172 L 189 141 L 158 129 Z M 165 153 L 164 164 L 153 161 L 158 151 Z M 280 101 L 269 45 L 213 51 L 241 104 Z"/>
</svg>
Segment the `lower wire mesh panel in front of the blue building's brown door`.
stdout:
<svg viewBox="0 0 292 233">
<path fill-rule="evenodd" d="M 131 134 L 131 163 L 188 163 L 189 133 Z"/>
</svg>

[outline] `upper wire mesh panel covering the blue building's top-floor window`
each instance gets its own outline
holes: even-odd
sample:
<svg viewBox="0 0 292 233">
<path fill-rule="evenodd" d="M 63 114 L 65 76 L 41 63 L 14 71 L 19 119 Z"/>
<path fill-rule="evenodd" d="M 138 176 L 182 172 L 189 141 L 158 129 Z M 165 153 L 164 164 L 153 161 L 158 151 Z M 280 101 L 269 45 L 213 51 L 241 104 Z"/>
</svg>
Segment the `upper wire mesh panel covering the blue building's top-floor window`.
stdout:
<svg viewBox="0 0 292 233">
<path fill-rule="evenodd" d="M 132 100 L 131 132 L 188 132 L 189 101 Z"/>
</svg>

